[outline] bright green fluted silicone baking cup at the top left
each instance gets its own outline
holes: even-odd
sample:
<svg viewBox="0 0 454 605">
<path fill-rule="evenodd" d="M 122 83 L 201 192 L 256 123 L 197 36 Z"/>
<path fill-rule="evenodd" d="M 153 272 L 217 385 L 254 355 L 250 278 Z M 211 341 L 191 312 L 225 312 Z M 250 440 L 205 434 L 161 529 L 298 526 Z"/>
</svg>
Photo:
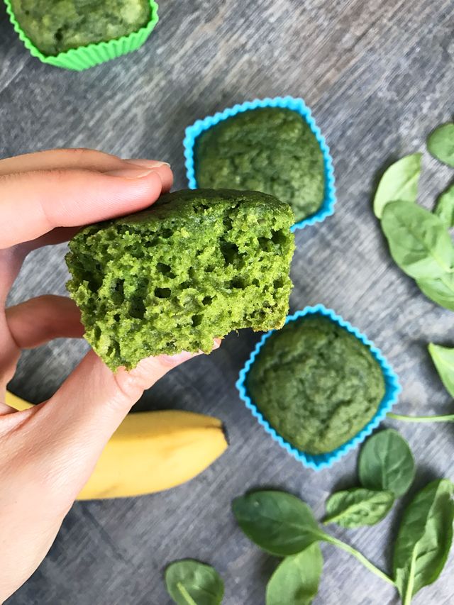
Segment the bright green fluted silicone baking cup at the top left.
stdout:
<svg viewBox="0 0 454 605">
<path fill-rule="evenodd" d="M 95 65 L 99 65 L 99 63 L 116 59 L 116 57 L 121 57 L 121 55 L 126 55 L 128 52 L 137 50 L 153 31 L 158 20 L 157 4 L 154 0 L 150 0 L 150 21 L 148 21 L 146 26 L 140 28 L 140 30 L 123 35 L 121 38 L 109 40 L 108 42 L 98 42 L 87 46 L 79 46 L 79 48 L 71 48 L 65 52 L 60 52 L 59 55 L 43 55 L 43 52 L 35 47 L 19 25 L 11 6 L 11 0 L 4 1 L 6 11 L 9 14 L 9 20 L 24 46 L 33 57 L 37 57 L 43 63 L 76 72 L 82 72 L 82 70 L 87 70 L 89 67 L 94 67 Z"/>
</svg>

